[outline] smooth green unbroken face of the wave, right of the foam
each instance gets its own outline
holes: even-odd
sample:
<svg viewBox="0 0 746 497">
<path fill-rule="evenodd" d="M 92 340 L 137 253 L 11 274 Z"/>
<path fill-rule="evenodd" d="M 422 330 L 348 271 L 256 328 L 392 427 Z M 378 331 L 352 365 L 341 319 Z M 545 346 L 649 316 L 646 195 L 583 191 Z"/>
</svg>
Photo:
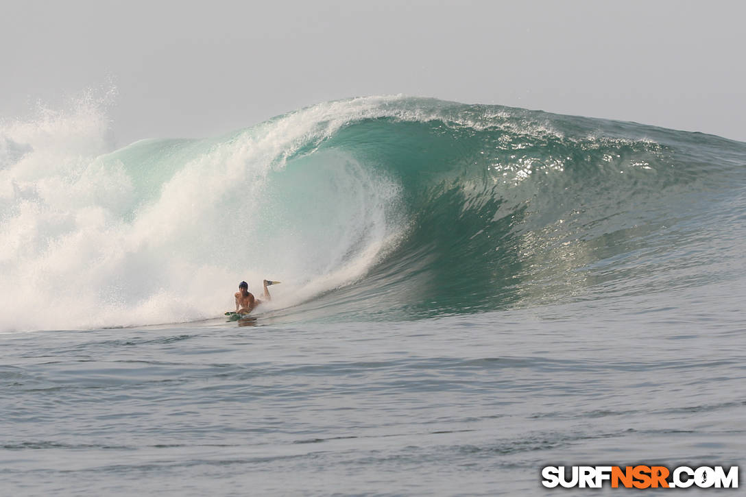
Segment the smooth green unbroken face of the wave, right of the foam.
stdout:
<svg viewBox="0 0 746 497">
<path fill-rule="evenodd" d="M 304 157 L 343 151 L 391 178 L 406 219 L 365 278 L 308 310 L 419 318 L 728 277 L 707 244 L 742 231 L 721 209 L 743 211 L 744 144 L 504 107 L 399 110 L 352 122 Z"/>
</svg>

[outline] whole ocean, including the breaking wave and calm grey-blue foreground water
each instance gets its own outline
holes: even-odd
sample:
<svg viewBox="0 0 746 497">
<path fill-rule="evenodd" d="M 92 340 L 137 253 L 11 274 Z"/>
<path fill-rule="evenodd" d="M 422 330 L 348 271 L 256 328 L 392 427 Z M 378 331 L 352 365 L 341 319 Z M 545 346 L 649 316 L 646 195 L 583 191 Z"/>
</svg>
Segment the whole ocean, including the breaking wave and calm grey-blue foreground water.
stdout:
<svg viewBox="0 0 746 497">
<path fill-rule="evenodd" d="M 104 107 L 0 122 L 0 494 L 742 462 L 746 143 L 385 96 L 112 151 Z"/>
</svg>

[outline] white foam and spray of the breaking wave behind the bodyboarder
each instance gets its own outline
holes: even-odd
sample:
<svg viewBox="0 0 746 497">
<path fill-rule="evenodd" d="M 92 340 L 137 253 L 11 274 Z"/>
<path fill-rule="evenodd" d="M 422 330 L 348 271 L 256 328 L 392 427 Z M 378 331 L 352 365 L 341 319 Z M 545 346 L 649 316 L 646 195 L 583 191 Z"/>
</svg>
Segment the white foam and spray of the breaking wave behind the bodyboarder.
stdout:
<svg viewBox="0 0 746 497">
<path fill-rule="evenodd" d="M 0 330 L 204 319 L 231 308 L 242 279 L 257 295 L 261 279 L 283 281 L 277 307 L 360 278 L 400 228 L 394 182 L 318 154 L 304 166 L 319 168 L 319 195 L 282 215 L 268 195 L 298 147 L 396 99 L 319 104 L 205 140 L 145 201 L 127 165 L 101 157 L 101 101 L 0 125 Z M 325 213 L 326 225 L 304 223 Z"/>
</svg>

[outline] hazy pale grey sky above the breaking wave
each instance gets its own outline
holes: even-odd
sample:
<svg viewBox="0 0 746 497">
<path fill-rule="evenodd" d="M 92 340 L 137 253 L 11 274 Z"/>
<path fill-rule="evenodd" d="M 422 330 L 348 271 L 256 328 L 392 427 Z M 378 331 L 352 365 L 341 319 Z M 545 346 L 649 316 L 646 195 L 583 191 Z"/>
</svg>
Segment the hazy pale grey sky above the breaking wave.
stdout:
<svg viewBox="0 0 746 497">
<path fill-rule="evenodd" d="M 746 141 L 738 1 L 0 1 L 0 119 L 112 80 L 120 145 L 392 93 Z"/>
</svg>

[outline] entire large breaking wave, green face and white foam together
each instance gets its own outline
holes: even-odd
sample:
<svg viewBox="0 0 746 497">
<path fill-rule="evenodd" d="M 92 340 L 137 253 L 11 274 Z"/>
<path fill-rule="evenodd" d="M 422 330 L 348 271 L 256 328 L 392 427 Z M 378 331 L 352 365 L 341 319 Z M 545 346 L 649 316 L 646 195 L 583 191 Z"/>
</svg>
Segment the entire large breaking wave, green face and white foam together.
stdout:
<svg viewBox="0 0 746 497">
<path fill-rule="evenodd" d="M 0 125 L 0 329 L 206 319 L 263 278 L 277 319 L 389 320 L 733 275 L 744 143 L 386 96 L 102 153 L 104 107 Z"/>
</svg>

